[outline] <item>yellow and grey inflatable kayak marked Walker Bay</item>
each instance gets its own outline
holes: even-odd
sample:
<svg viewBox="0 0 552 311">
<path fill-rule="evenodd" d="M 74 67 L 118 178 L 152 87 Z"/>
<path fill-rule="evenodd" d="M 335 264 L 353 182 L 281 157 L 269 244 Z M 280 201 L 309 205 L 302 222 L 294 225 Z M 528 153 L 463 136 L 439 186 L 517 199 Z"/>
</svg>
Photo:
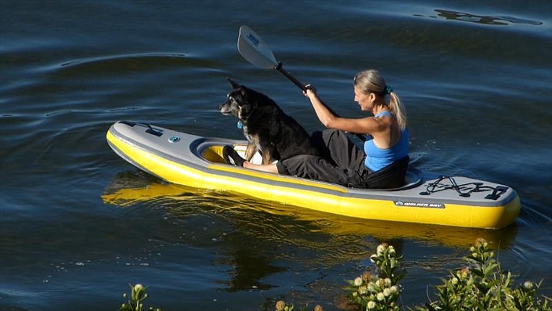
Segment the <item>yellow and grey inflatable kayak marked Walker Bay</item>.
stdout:
<svg viewBox="0 0 552 311">
<path fill-rule="evenodd" d="M 131 121 L 114 123 L 106 139 L 119 157 L 169 183 L 347 217 L 496 230 L 513 223 L 520 212 L 520 199 L 511 187 L 468 177 L 408 168 L 400 188 L 347 188 L 224 163 L 222 148 L 230 145 L 243 155 L 243 140 L 199 137 Z M 260 163 L 260 156 L 252 161 Z"/>
</svg>

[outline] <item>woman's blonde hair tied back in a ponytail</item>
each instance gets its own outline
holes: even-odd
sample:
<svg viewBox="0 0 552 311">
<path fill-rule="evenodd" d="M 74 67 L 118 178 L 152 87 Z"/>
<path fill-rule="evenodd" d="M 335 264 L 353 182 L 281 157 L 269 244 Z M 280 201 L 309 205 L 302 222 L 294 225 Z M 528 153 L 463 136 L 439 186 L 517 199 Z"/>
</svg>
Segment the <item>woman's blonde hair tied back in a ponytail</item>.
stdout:
<svg viewBox="0 0 552 311">
<path fill-rule="evenodd" d="M 404 106 L 402 106 L 400 98 L 393 89 L 387 86 L 385 79 L 379 71 L 374 69 L 361 71 L 355 75 L 353 81 L 355 86 L 366 95 L 375 93 L 385 97 L 386 94 L 389 94 L 389 110 L 395 114 L 401 130 L 406 128 L 406 111 L 404 110 Z"/>
</svg>

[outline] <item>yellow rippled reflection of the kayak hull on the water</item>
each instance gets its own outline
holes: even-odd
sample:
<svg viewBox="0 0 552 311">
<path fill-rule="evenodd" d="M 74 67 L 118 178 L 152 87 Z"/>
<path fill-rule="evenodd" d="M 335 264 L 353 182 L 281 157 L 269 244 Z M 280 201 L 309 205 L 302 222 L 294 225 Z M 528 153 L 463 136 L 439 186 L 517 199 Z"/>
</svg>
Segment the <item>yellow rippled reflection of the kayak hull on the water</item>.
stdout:
<svg viewBox="0 0 552 311">
<path fill-rule="evenodd" d="M 515 224 L 502 230 L 481 230 L 341 217 L 257 201 L 239 194 L 163 183 L 153 177 L 137 178 L 131 172 L 118 174 L 104 191 L 102 199 L 104 203 L 121 207 L 156 202 L 174 217 L 217 212 L 219 217 L 232 217 L 233 221 L 239 221 L 248 230 L 253 230 L 259 239 L 282 240 L 307 248 L 328 248 L 328 255 L 336 259 L 362 257 L 371 251 L 375 243 L 396 239 L 417 239 L 465 248 L 472 245 L 477 237 L 483 237 L 505 249 L 517 232 Z M 289 228 L 295 228 L 295 235 L 290 234 Z M 320 243 L 313 241 L 312 237 L 304 239 L 302 235 L 308 232 L 320 232 L 326 241 Z M 366 237 L 374 241 L 366 244 Z M 327 243 L 332 244 L 331 247 Z M 336 245 L 337 249 L 334 248 Z"/>
</svg>

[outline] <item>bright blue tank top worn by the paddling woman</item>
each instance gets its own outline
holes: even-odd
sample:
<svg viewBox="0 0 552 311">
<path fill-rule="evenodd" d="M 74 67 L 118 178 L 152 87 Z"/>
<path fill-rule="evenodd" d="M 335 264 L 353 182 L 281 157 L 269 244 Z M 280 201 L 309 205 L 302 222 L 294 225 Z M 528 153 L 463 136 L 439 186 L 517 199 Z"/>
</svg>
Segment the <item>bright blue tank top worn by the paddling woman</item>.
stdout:
<svg viewBox="0 0 552 311">
<path fill-rule="evenodd" d="M 388 111 L 382 111 L 376 114 L 374 117 L 380 117 L 387 115 L 392 117 L 393 114 Z M 408 155 L 408 129 L 405 128 L 401 131 L 401 138 L 395 146 L 387 149 L 382 149 L 375 146 L 372 137 L 364 142 L 364 152 L 366 153 L 366 159 L 364 159 L 364 165 L 372 172 L 376 172 L 385 168 L 387 165 L 406 157 Z"/>
</svg>

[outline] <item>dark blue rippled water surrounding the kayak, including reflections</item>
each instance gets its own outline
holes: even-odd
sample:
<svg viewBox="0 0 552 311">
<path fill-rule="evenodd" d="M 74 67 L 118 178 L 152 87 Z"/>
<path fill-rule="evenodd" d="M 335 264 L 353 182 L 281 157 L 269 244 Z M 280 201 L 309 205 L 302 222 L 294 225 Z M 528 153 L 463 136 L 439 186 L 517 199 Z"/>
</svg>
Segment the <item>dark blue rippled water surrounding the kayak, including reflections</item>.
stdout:
<svg viewBox="0 0 552 311">
<path fill-rule="evenodd" d="M 549 1 L 2 1 L 0 309 L 112 310 L 144 283 L 164 310 L 335 310 L 380 241 L 415 305 L 476 237 L 552 296 L 551 17 Z M 226 77 L 321 129 L 298 88 L 239 56 L 242 24 L 346 117 L 353 74 L 381 70 L 413 165 L 511 185 L 520 217 L 491 232 L 337 217 L 166 184 L 108 148 L 119 119 L 241 138 L 217 111 Z"/>
</svg>

